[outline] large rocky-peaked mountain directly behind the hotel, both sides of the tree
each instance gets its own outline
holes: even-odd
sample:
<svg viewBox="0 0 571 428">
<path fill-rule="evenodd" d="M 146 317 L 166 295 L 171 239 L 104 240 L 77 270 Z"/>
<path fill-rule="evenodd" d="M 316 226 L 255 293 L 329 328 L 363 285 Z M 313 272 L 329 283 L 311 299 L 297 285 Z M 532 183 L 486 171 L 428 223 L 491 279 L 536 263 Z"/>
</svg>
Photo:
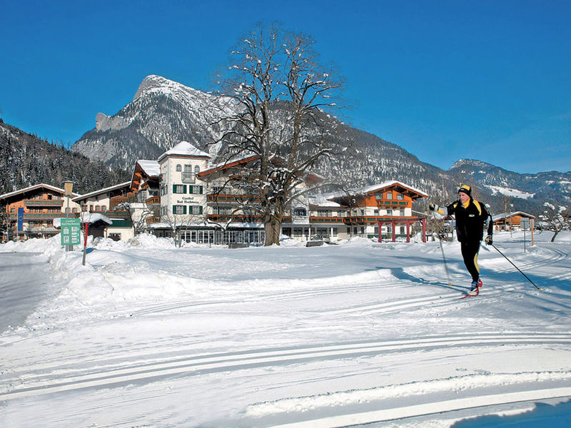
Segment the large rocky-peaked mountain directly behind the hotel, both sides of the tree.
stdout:
<svg viewBox="0 0 571 428">
<path fill-rule="evenodd" d="M 221 102 L 223 105 L 221 106 Z M 161 76 L 146 77 L 133 97 L 113 116 L 98 113 L 96 128 L 84 134 L 72 151 L 101 160 L 111 168 L 134 165 L 141 158 L 157 158 L 179 141 L 188 141 L 203 151 L 216 139 L 213 125 L 221 116 L 221 108 L 233 110 L 230 101 L 220 101 L 211 93 L 197 91 Z M 280 106 L 276 106 L 280 108 Z M 355 156 L 350 162 L 320 165 L 324 175 L 340 175 L 354 185 L 367 185 L 382 180 L 403 180 L 429 192 L 446 195 L 442 190 L 456 186 L 444 170 L 422 163 L 412 154 L 377 136 L 347 126 L 336 118 L 332 138 L 353 144 Z M 450 185 L 448 185 L 450 183 Z"/>
</svg>

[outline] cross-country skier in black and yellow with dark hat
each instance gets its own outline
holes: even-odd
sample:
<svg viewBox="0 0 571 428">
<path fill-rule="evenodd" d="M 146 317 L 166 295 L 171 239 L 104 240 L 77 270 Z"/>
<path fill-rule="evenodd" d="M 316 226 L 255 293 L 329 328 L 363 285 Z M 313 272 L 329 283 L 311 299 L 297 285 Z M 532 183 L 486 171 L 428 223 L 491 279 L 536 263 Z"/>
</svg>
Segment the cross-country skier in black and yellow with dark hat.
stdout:
<svg viewBox="0 0 571 428">
<path fill-rule="evenodd" d="M 472 198 L 472 189 L 469 185 L 462 185 L 458 189 L 458 200 L 447 207 L 438 207 L 430 203 L 430 210 L 441 215 L 455 215 L 456 235 L 460 242 L 464 264 L 472 275 L 472 287 L 470 295 L 477 295 L 479 287 L 482 287 L 480 280 L 480 267 L 477 265 L 477 253 L 480 250 L 480 243 L 484 236 L 484 226 L 487 226 L 487 236 L 485 243 L 492 245 L 492 216 L 487 212 L 484 204 Z"/>
</svg>

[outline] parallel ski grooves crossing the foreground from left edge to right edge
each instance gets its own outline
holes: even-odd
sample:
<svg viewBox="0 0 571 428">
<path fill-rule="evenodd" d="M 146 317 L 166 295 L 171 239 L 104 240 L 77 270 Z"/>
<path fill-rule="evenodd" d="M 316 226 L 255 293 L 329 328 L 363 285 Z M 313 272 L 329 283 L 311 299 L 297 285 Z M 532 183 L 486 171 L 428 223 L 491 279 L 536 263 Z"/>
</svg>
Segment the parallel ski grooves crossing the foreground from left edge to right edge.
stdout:
<svg viewBox="0 0 571 428">
<path fill-rule="evenodd" d="M 153 382 L 165 377 L 191 376 L 205 372 L 226 372 L 249 367 L 272 367 L 302 363 L 310 360 L 336 360 L 346 357 L 382 355 L 384 353 L 414 352 L 450 347 L 492 347 L 506 345 L 571 345 L 567 333 L 495 333 L 465 337 L 420 337 L 414 340 L 390 340 L 385 342 L 350 342 L 336 345 L 313 345 L 281 349 L 259 349 L 221 354 L 188 355 L 162 358 L 148 355 L 152 362 L 121 364 L 115 367 L 89 367 L 85 370 L 69 370 L 54 367 L 57 379 L 49 378 L 48 367 L 43 374 L 19 373 L 14 379 L 4 379 L 4 385 L 19 384 L 11 390 L 0 392 L 0 402 L 56 392 L 69 392 L 84 388 L 108 388 L 132 382 Z M 140 358 L 143 358 L 142 356 Z M 48 373 L 48 374 L 46 374 Z M 5 387 L 6 388 L 6 387 Z"/>
</svg>

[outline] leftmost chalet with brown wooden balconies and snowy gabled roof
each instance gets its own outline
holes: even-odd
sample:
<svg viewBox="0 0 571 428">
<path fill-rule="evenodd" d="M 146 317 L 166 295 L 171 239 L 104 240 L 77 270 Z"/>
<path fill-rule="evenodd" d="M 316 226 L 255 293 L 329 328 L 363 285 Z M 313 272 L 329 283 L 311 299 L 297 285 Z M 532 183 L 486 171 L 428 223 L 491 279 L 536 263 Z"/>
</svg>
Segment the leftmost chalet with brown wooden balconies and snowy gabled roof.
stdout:
<svg viewBox="0 0 571 428">
<path fill-rule="evenodd" d="M 54 218 L 78 217 L 80 206 L 74 201 L 79 196 L 66 196 L 65 190 L 49 184 L 38 184 L 0 195 L 0 206 L 8 217 L 8 230 L 2 241 L 28 238 L 50 238 L 59 233 Z M 22 230 L 17 229 L 19 208 L 23 208 Z"/>
</svg>

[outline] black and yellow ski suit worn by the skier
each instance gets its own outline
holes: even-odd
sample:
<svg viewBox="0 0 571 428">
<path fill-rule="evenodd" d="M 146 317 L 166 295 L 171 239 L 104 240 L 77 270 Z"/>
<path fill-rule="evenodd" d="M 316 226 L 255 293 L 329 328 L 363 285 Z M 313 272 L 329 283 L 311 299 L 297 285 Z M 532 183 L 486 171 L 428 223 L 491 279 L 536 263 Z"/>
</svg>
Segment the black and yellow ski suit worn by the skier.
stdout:
<svg viewBox="0 0 571 428">
<path fill-rule="evenodd" d="M 460 242 L 464 264 L 472 275 L 472 280 L 480 278 L 480 267 L 477 265 L 477 253 L 480 250 L 480 242 L 484 237 L 484 225 L 488 218 L 487 234 L 492 235 L 492 216 L 487 212 L 484 204 L 470 198 L 468 202 L 456 201 L 446 207 L 448 215 L 456 218 L 456 235 Z"/>
</svg>

